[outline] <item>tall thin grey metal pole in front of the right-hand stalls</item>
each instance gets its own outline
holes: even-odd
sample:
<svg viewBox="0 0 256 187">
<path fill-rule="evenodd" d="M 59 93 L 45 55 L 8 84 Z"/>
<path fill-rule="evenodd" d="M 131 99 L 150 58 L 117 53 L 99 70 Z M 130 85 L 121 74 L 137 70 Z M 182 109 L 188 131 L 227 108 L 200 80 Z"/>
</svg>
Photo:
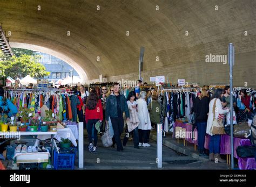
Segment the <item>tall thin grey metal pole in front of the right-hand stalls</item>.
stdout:
<svg viewBox="0 0 256 187">
<path fill-rule="evenodd" d="M 234 134 L 233 134 L 233 65 L 234 46 L 232 43 L 228 47 L 228 64 L 230 65 L 230 134 L 231 134 L 231 169 L 234 169 Z"/>
</svg>

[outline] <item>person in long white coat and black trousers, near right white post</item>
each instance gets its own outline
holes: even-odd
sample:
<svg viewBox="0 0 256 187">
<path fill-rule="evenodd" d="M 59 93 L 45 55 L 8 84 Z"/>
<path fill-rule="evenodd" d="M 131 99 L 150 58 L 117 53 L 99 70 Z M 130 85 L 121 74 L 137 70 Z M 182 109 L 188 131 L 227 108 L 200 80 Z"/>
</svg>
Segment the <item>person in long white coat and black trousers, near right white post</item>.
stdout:
<svg viewBox="0 0 256 187">
<path fill-rule="evenodd" d="M 151 130 L 151 122 L 149 111 L 147 110 L 147 102 L 145 100 L 146 92 L 141 91 L 139 93 L 138 103 L 138 117 L 139 117 L 139 146 L 150 147 L 151 145 L 147 142 L 149 139 L 149 133 L 147 130 Z"/>
</svg>

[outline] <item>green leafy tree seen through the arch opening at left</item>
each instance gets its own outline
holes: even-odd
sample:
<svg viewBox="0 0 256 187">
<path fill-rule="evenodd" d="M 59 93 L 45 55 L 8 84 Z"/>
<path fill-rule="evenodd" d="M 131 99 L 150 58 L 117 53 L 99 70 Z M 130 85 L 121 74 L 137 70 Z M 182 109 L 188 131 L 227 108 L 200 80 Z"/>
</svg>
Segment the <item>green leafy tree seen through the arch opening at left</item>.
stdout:
<svg viewBox="0 0 256 187">
<path fill-rule="evenodd" d="M 3 53 L 0 53 L 0 70 L 4 76 L 12 78 L 25 77 L 26 75 L 34 78 L 49 76 L 50 72 L 46 71 L 45 67 L 38 62 L 40 57 L 39 55 L 28 54 L 5 57 Z"/>
</svg>

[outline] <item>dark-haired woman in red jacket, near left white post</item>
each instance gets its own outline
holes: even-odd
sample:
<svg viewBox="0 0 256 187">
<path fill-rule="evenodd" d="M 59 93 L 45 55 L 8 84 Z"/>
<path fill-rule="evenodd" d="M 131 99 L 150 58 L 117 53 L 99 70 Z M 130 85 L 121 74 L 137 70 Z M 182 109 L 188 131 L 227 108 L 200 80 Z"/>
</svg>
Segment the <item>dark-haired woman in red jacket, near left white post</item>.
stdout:
<svg viewBox="0 0 256 187">
<path fill-rule="evenodd" d="M 102 102 L 99 99 L 97 92 L 92 90 L 89 97 L 86 100 L 85 105 L 85 116 L 86 116 L 86 129 L 89 139 L 89 152 L 96 152 L 96 146 L 98 141 L 97 130 L 95 124 L 97 121 L 100 123 L 103 120 Z M 92 128 L 94 128 L 94 145 L 92 144 Z"/>
</svg>

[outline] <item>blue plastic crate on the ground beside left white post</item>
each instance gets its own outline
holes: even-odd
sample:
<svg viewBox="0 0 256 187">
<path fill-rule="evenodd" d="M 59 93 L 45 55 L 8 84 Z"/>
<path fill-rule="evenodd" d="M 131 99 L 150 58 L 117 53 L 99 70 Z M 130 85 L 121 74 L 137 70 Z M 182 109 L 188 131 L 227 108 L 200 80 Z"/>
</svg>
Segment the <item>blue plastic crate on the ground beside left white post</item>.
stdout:
<svg viewBox="0 0 256 187">
<path fill-rule="evenodd" d="M 75 168 L 75 153 L 57 153 L 54 150 L 54 169 L 74 169 Z"/>
</svg>

